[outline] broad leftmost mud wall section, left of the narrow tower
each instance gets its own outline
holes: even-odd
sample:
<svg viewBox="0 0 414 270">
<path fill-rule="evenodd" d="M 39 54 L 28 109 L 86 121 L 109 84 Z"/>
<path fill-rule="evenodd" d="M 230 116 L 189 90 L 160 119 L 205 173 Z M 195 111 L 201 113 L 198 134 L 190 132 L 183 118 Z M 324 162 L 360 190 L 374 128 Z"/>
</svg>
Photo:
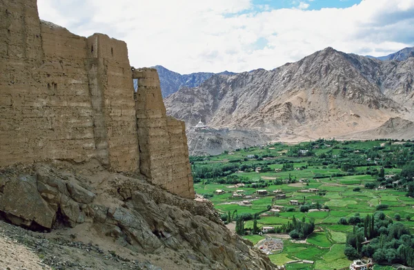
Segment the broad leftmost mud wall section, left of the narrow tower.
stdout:
<svg viewBox="0 0 414 270">
<path fill-rule="evenodd" d="M 6 2 L 0 5 L 0 165 L 91 157 L 86 39 L 41 25 L 36 1 Z"/>
</svg>

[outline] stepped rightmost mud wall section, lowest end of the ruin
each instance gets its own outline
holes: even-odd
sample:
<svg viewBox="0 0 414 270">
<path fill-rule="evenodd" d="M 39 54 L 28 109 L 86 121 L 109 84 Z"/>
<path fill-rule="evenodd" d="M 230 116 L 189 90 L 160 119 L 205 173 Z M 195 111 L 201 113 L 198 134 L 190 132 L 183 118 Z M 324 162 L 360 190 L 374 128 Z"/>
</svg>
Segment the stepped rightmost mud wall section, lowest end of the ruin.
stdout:
<svg viewBox="0 0 414 270">
<path fill-rule="evenodd" d="M 166 116 L 157 70 L 134 70 L 132 77 L 138 79 L 141 173 L 172 193 L 194 197 L 184 122 Z"/>
</svg>

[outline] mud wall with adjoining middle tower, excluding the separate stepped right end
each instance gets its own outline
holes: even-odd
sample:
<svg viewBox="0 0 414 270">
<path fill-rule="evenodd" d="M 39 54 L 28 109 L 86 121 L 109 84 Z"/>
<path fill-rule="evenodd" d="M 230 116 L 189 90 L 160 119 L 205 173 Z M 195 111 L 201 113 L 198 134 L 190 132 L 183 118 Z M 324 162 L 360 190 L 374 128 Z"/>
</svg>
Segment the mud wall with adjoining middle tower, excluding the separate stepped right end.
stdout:
<svg viewBox="0 0 414 270">
<path fill-rule="evenodd" d="M 36 1 L 1 2 L 0 40 L 1 165 L 99 157 L 118 171 L 138 168 L 124 42 L 41 22 Z"/>
</svg>

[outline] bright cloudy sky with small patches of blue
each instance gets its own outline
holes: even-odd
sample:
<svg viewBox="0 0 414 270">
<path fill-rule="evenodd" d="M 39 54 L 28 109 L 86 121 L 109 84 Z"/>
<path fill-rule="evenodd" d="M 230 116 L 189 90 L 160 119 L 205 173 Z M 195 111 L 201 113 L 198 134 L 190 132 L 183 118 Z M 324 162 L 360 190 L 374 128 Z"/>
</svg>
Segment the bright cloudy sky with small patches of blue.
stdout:
<svg viewBox="0 0 414 270">
<path fill-rule="evenodd" d="M 39 16 L 128 44 L 131 66 L 177 73 L 273 69 L 333 47 L 414 46 L 414 0 L 38 0 Z"/>
</svg>

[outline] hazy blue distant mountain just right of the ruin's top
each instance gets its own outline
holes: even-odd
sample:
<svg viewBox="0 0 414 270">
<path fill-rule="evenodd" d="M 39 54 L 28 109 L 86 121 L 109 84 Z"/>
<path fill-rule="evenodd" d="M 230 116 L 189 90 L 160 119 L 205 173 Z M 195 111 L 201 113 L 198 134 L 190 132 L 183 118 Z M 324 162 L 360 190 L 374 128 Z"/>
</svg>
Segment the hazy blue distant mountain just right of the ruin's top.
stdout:
<svg viewBox="0 0 414 270">
<path fill-rule="evenodd" d="M 161 93 L 163 97 L 168 97 L 169 95 L 177 92 L 179 88 L 182 87 L 197 87 L 206 79 L 209 79 L 215 73 L 190 73 L 181 75 L 179 73 L 175 73 L 174 71 L 168 70 L 164 68 L 164 66 L 154 66 L 158 71 L 159 81 L 161 82 Z M 233 75 L 235 73 L 230 73 L 228 71 L 224 71 L 222 73 L 218 73 L 222 75 Z"/>
</svg>

